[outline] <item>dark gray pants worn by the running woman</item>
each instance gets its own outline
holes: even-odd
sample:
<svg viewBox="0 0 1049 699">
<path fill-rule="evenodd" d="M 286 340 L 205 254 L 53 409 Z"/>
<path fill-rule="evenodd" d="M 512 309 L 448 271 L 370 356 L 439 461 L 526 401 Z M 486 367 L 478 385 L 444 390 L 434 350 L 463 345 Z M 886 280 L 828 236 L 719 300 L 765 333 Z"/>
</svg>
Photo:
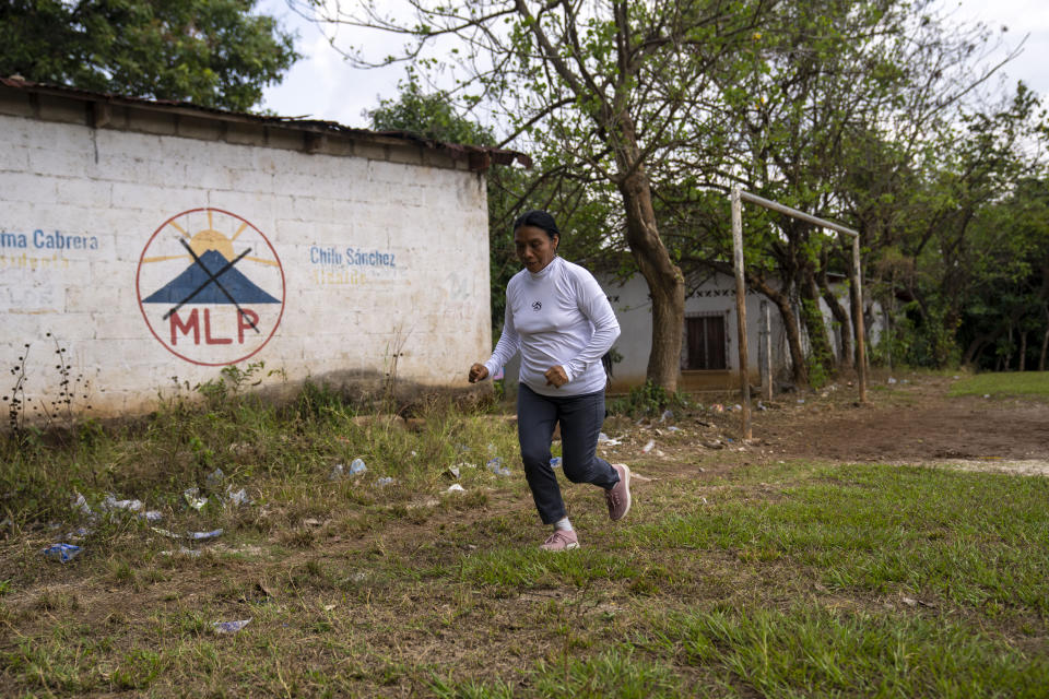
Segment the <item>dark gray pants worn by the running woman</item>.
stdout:
<svg viewBox="0 0 1049 699">
<path fill-rule="evenodd" d="M 521 442 L 524 477 L 544 524 L 565 517 L 557 476 L 550 465 L 550 440 L 561 423 L 561 464 L 573 483 L 611 488 L 620 474 L 597 455 L 604 423 L 604 391 L 585 395 L 540 395 L 523 383 L 517 392 L 517 438 Z"/>
</svg>

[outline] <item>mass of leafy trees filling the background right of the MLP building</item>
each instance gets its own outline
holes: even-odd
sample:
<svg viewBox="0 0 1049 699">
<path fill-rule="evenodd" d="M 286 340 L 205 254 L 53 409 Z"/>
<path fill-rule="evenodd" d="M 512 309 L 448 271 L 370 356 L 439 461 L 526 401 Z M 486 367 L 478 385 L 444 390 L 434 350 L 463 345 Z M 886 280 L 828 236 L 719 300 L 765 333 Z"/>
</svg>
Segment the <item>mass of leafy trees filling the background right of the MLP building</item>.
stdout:
<svg viewBox="0 0 1049 699">
<path fill-rule="evenodd" d="M 414 23 L 368 0 L 331 20 L 400 33 L 406 50 L 380 63 L 458 69 L 450 97 L 502 115 L 505 142 L 540 163 L 504 194 L 558 212 L 591 266 L 648 281 L 658 386 L 674 386 L 685 287 L 731 271 L 733 185 L 860 232 L 865 311 L 872 299 L 898 311 L 887 333 L 906 334 L 897 358 L 943 366 L 991 345 L 1002 356 L 1027 335 L 1029 352 L 1004 356 L 1037 353 L 1042 277 L 1024 272 L 1033 262 L 995 260 L 1037 239 L 1025 182 L 1046 181 L 1047 132 L 1029 92 L 1002 102 L 991 90 L 999 66 L 980 62 L 993 38 L 985 27 L 952 24 L 929 0 L 409 4 Z M 425 57 L 448 37 L 460 60 Z M 779 309 L 794 379 L 849 365 L 852 304 L 828 281 L 850 273 L 849 241 L 745 213 L 747 279 Z M 1003 274 L 1026 291 L 978 293 L 1004 288 Z M 979 340 L 989 332 L 990 345 Z"/>
</svg>

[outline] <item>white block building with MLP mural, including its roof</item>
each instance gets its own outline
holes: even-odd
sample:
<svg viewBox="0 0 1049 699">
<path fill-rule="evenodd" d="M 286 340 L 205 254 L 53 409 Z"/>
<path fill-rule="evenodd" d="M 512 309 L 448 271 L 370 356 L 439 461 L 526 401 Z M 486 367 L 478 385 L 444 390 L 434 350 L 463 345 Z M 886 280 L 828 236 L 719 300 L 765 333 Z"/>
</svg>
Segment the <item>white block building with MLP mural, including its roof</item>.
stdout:
<svg viewBox="0 0 1049 699">
<path fill-rule="evenodd" d="M 0 362 L 47 401 L 64 348 L 102 416 L 259 362 L 465 388 L 491 348 L 483 171 L 526 159 L 0 79 Z"/>
</svg>

